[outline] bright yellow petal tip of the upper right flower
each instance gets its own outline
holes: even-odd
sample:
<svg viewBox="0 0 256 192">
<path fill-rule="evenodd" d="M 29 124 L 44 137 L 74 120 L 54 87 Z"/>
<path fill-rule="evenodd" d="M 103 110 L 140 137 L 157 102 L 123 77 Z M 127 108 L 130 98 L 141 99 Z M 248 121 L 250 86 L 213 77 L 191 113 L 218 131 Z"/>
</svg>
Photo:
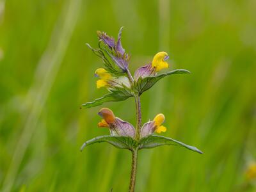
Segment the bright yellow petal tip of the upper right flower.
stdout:
<svg viewBox="0 0 256 192">
<path fill-rule="evenodd" d="M 152 67 L 156 69 L 156 72 L 169 67 L 168 63 L 165 61 L 168 58 L 169 56 L 166 52 L 157 52 L 152 61 Z"/>
</svg>

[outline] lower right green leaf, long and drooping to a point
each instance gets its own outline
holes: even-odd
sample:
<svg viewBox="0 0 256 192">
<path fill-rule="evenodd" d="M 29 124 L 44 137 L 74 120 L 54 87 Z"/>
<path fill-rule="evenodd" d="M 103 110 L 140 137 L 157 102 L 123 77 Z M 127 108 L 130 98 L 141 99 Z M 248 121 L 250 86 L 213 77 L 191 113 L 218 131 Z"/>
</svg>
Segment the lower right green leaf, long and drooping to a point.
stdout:
<svg viewBox="0 0 256 192">
<path fill-rule="evenodd" d="M 166 138 L 164 136 L 158 136 L 158 135 L 150 135 L 145 138 L 142 138 L 139 141 L 139 148 L 154 148 L 154 147 L 159 147 L 161 145 L 177 145 L 180 147 L 185 147 L 188 148 L 189 150 L 193 150 L 195 152 L 198 152 L 200 154 L 203 154 L 202 151 L 200 151 L 198 148 L 186 145 L 180 141 L 173 140 L 172 138 Z"/>
</svg>

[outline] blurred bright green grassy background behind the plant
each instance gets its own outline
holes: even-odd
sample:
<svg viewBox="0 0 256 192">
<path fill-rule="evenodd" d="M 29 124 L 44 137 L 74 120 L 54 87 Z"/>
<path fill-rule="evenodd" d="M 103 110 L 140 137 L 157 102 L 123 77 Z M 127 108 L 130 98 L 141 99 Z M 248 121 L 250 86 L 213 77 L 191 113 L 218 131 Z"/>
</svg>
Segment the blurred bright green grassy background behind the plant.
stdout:
<svg viewBox="0 0 256 192">
<path fill-rule="evenodd" d="M 131 53 L 131 71 L 170 54 L 166 77 L 141 97 L 143 122 L 166 116 L 170 136 L 204 152 L 159 147 L 139 153 L 136 191 L 256 191 L 256 1 L 0 0 L 0 190 L 127 191 L 131 154 L 86 140 L 97 128 L 102 66 L 85 45 L 95 31 Z M 132 98 L 110 102 L 134 124 Z"/>
</svg>

